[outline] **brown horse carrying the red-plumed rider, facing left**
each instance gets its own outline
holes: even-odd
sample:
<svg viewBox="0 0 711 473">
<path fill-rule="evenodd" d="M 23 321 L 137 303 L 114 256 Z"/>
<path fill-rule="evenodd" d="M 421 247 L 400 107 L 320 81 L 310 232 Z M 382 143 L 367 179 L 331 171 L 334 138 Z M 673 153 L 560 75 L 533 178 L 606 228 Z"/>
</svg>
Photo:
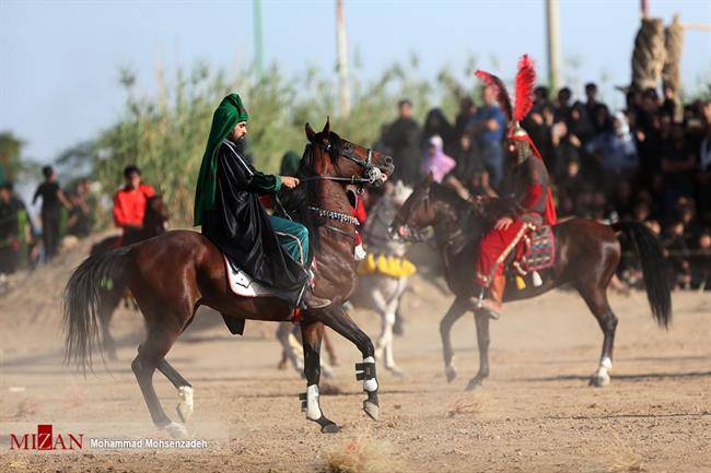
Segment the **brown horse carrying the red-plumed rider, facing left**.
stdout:
<svg viewBox="0 0 711 473">
<path fill-rule="evenodd" d="M 478 243 L 483 233 L 501 215 L 497 201 L 489 205 L 473 205 L 444 186 L 427 177 L 405 202 L 391 225 L 392 234 L 415 241 L 423 239 L 423 230 L 434 227 L 436 250 L 444 262 L 447 284 L 456 298 L 440 323 L 444 366 L 448 381 L 456 377 L 450 331 L 459 317 L 474 310 L 474 265 Z M 591 385 L 609 383 L 613 366 L 613 345 L 617 317 L 607 300 L 607 286 L 619 264 L 622 234 L 639 256 L 644 273 L 646 295 L 652 316 L 660 326 L 668 328 L 672 321 L 672 299 L 662 250 L 654 235 L 637 222 L 603 225 L 592 220 L 572 218 L 553 226 L 556 236 L 555 265 L 545 270 L 544 284 L 517 291 L 508 284 L 504 301 L 535 297 L 562 284 L 571 284 L 587 304 L 603 330 L 603 353 L 599 367 Z M 475 311 L 479 345 L 479 373 L 471 378 L 467 390 L 479 387 L 489 376 L 489 315 Z"/>
</svg>

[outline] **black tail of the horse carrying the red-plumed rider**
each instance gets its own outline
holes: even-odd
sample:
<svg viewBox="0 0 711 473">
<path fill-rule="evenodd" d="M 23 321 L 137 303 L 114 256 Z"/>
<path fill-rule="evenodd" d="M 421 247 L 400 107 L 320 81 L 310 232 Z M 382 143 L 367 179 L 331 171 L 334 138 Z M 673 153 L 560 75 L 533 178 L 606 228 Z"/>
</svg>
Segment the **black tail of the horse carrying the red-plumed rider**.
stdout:
<svg viewBox="0 0 711 473">
<path fill-rule="evenodd" d="M 672 289 L 664 255 L 656 237 L 644 224 L 639 222 L 618 222 L 611 227 L 614 230 L 625 234 L 631 243 L 642 264 L 642 275 L 652 317 L 660 326 L 668 329 L 672 322 Z"/>
</svg>

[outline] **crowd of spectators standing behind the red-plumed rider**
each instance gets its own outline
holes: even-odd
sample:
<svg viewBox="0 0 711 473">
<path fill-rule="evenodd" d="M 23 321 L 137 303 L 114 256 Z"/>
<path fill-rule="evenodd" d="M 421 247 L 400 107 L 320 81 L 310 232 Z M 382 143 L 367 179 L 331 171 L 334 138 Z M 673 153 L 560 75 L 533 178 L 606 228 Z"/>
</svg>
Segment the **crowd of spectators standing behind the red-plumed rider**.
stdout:
<svg viewBox="0 0 711 473">
<path fill-rule="evenodd" d="M 505 119 L 490 88 L 480 98 L 477 106 L 463 97 L 452 121 L 434 108 L 422 126 L 401 100 L 376 144 L 393 155 L 395 178 L 415 185 L 431 172 L 465 199 L 496 196 L 505 178 Z M 710 102 L 681 104 L 669 87 L 663 96 L 650 88 L 627 92 L 616 111 L 594 83 L 581 100 L 568 87 L 551 97 L 539 86 L 523 126 L 550 173 L 559 217 L 642 222 L 663 245 L 675 287 L 711 289 Z M 639 284 L 629 256 L 620 268 Z"/>
</svg>

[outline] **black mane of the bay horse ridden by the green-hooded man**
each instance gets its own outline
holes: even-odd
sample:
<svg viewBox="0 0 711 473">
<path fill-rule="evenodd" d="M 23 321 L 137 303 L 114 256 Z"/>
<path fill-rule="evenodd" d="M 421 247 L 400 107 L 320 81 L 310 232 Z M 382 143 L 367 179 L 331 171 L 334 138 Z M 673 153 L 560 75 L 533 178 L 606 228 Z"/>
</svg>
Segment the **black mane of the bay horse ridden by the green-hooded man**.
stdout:
<svg viewBox="0 0 711 473">
<path fill-rule="evenodd" d="M 322 133 L 318 133 L 314 138 L 314 141 L 318 142 L 324 138 L 325 137 Z M 331 131 L 328 134 L 328 142 L 330 144 L 330 152 L 328 153 L 329 158 L 333 159 L 333 156 L 340 156 L 340 137 Z M 318 176 L 313 168 L 313 154 L 314 145 L 310 143 L 304 149 L 304 154 L 301 157 L 295 176 L 302 180 L 302 184 L 295 189 L 282 189 L 278 194 L 279 201 L 284 206 L 287 213 L 289 213 L 289 216 L 294 222 L 304 225 L 308 230 L 308 261 L 313 258 L 314 251 L 320 246 L 318 226 L 325 223 L 324 218 L 308 210 L 310 206 L 313 206 L 318 202 L 320 197 L 318 192 L 318 180 L 313 179 Z M 281 209 L 278 209 L 278 213 L 281 214 Z"/>
</svg>

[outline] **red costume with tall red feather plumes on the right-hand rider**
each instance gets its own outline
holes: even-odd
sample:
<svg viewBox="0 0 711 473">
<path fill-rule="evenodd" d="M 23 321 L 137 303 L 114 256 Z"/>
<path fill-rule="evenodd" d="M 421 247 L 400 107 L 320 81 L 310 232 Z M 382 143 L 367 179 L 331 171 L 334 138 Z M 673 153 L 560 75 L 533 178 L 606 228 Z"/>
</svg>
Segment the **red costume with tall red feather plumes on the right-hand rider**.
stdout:
<svg viewBox="0 0 711 473">
<path fill-rule="evenodd" d="M 483 71 L 477 71 L 476 74 L 494 90 L 504 115 L 510 120 L 513 119 L 506 135 L 506 150 L 515 152 L 516 155 L 516 164 L 511 169 L 510 186 L 506 189 L 513 197 L 506 198 L 510 211 L 505 216 L 511 217 L 513 223 L 505 229 L 491 228 L 479 244 L 476 281 L 479 286 L 488 287 L 497 276 L 502 275 L 503 263 L 514 248 L 517 258 L 523 256 L 525 246 L 518 243 L 528 232 L 541 224 L 556 224 L 556 208 L 543 157 L 526 131 L 518 125 L 533 105 L 533 85 L 536 79 L 533 62 L 527 55 L 518 62 L 515 109 L 512 109 L 509 95 L 499 78 Z"/>
</svg>

